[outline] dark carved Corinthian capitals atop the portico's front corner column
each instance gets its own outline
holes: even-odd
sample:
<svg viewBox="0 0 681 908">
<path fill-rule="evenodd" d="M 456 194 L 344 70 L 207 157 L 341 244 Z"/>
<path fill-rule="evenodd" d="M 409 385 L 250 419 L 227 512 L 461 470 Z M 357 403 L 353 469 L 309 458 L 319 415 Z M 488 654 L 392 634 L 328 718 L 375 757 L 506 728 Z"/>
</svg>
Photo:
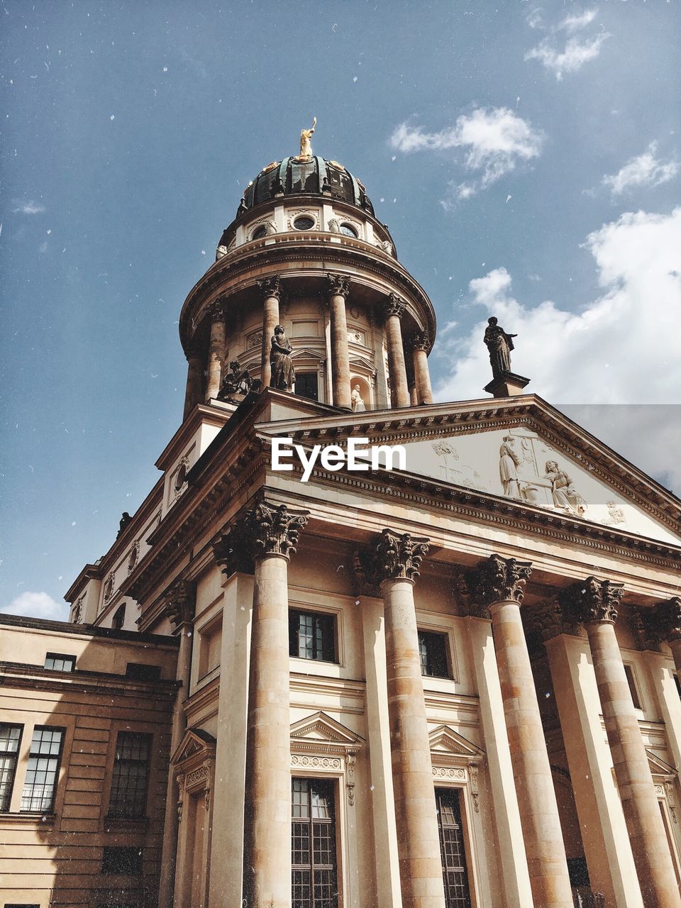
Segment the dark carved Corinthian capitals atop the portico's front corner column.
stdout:
<svg viewBox="0 0 681 908">
<path fill-rule="evenodd" d="M 310 511 L 259 501 L 242 520 L 212 543 L 215 560 L 228 576 L 235 570 L 252 573 L 252 562 L 265 555 L 295 555 L 301 529 Z"/>
</svg>

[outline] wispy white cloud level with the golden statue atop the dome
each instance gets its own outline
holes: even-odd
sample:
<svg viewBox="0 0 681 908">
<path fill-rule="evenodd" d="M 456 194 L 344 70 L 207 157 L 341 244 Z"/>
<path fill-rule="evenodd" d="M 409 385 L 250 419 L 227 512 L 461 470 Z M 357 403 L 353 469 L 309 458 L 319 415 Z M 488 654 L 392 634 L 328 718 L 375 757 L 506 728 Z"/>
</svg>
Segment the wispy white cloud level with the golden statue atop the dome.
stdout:
<svg viewBox="0 0 681 908">
<path fill-rule="evenodd" d="M 461 149 L 463 168 L 476 174 L 467 183 L 450 184 L 452 197 L 461 200 L 496 183 L 518 161 L 538 157 L 542 138 L 542 133 L 508 107 L 480 107 L 471 114 L 461 114 L 453 126 L 439 133 L 400 123 L 390 136 L 390 144 L 403 153 Z M 444 202 L 446 206 L 448 203 Z"/>
</svg>

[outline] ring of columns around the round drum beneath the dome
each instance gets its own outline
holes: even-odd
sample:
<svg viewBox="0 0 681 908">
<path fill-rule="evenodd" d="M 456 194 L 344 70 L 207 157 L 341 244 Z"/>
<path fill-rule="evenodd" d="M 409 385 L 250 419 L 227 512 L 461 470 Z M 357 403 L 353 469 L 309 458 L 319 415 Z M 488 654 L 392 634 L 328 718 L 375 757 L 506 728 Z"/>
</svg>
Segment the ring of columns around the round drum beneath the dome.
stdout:
<svg viewBox="0 0 681 908">
<path fill-rule="evenodd" d="M 271 275 L 257 281 L 262 298 L 262 350 L 261 378 L 264 387 L 271 378 L 270 341 L 274 328 L 280 321 L 281 279 Z M 350 410 L 350 350 L 348 345 L 347 302 L 350 294 L 350 276 L 329 272 L 326 276 L 325 300 L 331 322 L 331 384 L 335 407 Z M 402 336 L 402 316 L 405 302 L 395 293 L 389 293 L 378 307 L 383 318 L 388 369 L 390 375 L 390 404 L 393 408 L 412 404 L 432 403 L 432 390 L 428 369 L 429 337 L 418 332 L 405 340 Z M 184 399 L 184 417 L 196 403 L 209 402 L 218 396 L 222 381 L 222 364 L 226 345 L 226 308 L 224 301 L 212 304 L 208 311 L 210 339 L 208 359 L 200 350 L 188 354 L 187 387 Z M 407 357 L 409 356 L 409 369 Z M 203 371 L 205 369 L 205 390 Z"/>
</svg>

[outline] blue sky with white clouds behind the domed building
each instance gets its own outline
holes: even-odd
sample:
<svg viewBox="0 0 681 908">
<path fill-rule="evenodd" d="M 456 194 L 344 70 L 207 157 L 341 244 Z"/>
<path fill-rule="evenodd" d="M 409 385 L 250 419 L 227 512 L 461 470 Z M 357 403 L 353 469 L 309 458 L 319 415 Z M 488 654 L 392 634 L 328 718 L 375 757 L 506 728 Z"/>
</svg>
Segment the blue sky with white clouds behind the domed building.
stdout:
<svg viewBox="0 0 681 908">
<path fill-rule="evenodd" d="M 439 399 L 483 396 L 498 314 L 528 390 L 681 488 L 676 2 L 0 17 L 0 609 L 61 614 L 153 485 L 182 417 L 183 299 L 313 114 L 315 153 L 367 185 L 434 302 Z"/>
</svg>

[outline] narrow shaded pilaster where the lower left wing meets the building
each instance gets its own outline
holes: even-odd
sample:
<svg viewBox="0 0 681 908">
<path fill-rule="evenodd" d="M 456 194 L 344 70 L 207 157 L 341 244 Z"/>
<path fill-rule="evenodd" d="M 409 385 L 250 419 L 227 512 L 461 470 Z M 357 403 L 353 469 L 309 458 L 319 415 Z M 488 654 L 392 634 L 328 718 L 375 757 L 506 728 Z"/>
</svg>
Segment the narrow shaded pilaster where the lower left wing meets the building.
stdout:
<svg viewBox="0 0 681 908">
<path fill-rule="evenodd" d="M 192 627 L 196 609 L 196 591 L 192 583 L 178 580 L 165 594 L 164 613 L 170 619 L 174 633 L 180 637 L 175 677 L 180 689 L 173 706 L 171 731 L 171 758 L 182 742 L 187 719 L 184 715 L 184 700 L 189 696 L 189 679 L 192 676 Z M 177 861 L 178 802 L 180 788 L 173 765 L 168 772 L 165 797 L 165 818 L 163 821 L 163 851 L 161 856 L 161 883 L 159 908 L 171 908 Z"/>
</svg>

